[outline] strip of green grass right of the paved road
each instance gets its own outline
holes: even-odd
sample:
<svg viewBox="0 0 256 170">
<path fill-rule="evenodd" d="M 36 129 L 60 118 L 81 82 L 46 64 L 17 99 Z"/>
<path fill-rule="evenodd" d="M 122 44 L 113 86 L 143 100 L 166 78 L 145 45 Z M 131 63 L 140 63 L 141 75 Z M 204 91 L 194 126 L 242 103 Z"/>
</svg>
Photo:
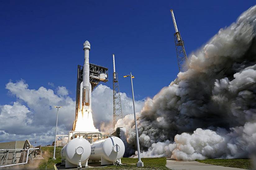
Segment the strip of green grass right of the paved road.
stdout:
<svg viewBox="0 0 256 170">
<path fill-rule="evenodd" d="M 196 159 L 196 161 L 202 162 L 205 164 L 219 165 L 224 167 L 243 168 L 243 169 L 251 168 L 250 159 L 205 159 L 205 160 Z"/>
</svg>

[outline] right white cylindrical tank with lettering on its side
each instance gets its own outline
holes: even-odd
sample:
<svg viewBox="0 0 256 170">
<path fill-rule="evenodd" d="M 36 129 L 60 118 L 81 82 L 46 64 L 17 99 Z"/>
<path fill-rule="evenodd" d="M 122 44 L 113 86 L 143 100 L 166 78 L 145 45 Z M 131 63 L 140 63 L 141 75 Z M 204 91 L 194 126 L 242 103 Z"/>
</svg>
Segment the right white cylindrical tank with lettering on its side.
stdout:
<svg viewBox="0 0 256 170">
<path fill-rule="evenodd" d="M 115 136 L 94 142 L 91 144 L 91 160 L 101 160 L 101 165 L 113 164 L 118 161 L 125 153 L 124 142 Z"/>
</svg>

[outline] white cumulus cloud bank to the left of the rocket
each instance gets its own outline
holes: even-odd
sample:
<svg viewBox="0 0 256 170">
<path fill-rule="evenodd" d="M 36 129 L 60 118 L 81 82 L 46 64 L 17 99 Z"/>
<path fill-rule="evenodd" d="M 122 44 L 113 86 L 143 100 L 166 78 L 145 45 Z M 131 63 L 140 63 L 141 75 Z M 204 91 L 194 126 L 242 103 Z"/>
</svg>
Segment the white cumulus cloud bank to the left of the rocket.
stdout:
<svg viewBox="0 0 256 170">
<path fill-rule="evenodd" d="M 75 101 L 70 97 L 54 94 L 52 89 L 29 89 L 24 80 L 6 84 L 9 94 L 15 96 L 13 104 L 0 106 L 1 141 L 25 140 L 42 144 L 54 140 L 56 112 L 54 106 L 62 106 L 59 112 L 58 133 L 67 134 L 72 127 Z"/>
</svg>

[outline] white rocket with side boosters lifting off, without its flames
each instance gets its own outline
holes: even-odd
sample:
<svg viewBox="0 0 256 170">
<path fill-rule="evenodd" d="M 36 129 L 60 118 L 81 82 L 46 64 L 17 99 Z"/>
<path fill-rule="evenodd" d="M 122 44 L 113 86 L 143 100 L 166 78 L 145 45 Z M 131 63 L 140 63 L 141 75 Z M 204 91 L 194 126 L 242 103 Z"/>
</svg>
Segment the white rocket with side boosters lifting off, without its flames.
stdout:
<svg viewBox="0 0 256 170">
<path fill-rule="evenodd" d="M 89 112 L 92 109 L 92 85 L 90 83 L 89 51 L 91 45 L 89 41 L 84 43 L 85 62 L 83 66 L 83 81 L 80 84 L 80 111 Z"/>
</svg>

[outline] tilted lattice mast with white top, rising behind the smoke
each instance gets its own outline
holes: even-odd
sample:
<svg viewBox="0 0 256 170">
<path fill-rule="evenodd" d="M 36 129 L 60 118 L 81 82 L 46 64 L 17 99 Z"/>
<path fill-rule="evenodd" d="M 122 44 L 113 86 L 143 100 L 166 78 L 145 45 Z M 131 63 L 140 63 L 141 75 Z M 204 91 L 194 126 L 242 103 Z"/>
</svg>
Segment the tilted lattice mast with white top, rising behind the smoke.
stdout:
<svg viewBox="0 0 256 170">
<path fill-rule="evenodd" d="M 175 34 L 174 34 L 174 43 L 175 43 L 175 48 L 176 48 L 176 54 L 177 54 L 177 60 L 178 60 L 178 66 L 179 66 L 179 71 L 184 72 L 186 70 L 186 67 L 188 66 L 188 57 L 185 51 L 184 47 L 184 41 L 181 38 L 181 34 L 178 31 L 177 24 L 175 21 L 175 17 L 173 14 L 173 10 L 171 11 L 171 17 L 172 21 L 174 24 L 174 29 L 175 29 Z"/>
</svg>

